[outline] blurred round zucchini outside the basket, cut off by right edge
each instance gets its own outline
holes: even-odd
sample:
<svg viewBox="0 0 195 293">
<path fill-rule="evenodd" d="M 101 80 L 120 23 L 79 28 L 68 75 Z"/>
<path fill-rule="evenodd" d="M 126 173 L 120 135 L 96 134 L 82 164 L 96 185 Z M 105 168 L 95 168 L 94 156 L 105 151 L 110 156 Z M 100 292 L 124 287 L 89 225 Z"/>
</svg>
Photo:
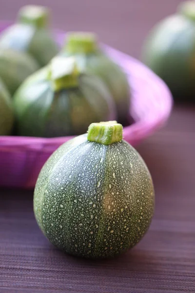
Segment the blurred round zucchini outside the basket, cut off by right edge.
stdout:
<svg viewBox="0 0 195 293">
<path fill-rule="evenodd" d="M 160 21 L 143 46 L 143 62 L 159 75 L 176 100 L 195 101 L 195 1 Z"/>
</svg>

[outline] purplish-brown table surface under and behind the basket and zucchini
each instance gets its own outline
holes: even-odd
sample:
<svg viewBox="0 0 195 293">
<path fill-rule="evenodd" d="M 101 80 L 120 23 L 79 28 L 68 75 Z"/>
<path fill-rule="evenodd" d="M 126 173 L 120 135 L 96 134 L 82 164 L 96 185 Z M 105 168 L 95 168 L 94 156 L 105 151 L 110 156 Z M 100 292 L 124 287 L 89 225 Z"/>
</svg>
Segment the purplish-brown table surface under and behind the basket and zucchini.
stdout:
<svg viewBox="0 0 195 293">
<path fill-rule="evenodd" d="M 134 57 L 178 0 L 33 1 L 53 9 L 64 30 L 90 30 Z M 24 0 L 0 1 L 14 20 Z M 31 2 L 32 3 L 32 2 Z M 0 293 L 195 293 L 195 106 L 174 107 L 168 124 L 138 151 L 156 189 L 150 230 L 113 260 L 86 261 L 55 249 L 33 214 L 33 191 L 0 189 Z"/>
</svg>

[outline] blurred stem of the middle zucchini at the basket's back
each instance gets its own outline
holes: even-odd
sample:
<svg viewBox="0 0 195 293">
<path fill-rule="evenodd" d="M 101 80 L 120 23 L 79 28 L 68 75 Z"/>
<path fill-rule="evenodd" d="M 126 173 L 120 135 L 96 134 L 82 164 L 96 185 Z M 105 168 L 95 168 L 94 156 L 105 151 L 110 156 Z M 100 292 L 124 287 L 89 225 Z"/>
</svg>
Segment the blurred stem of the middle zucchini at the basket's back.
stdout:
<svg viewBox="0 0 195 293">
<path fill-rule="evenodd" d="M 64 51 L 75 53 L 94 53 L 98 50 L 97 37 L 93 33 L 67 33 Z"/>
</svg>

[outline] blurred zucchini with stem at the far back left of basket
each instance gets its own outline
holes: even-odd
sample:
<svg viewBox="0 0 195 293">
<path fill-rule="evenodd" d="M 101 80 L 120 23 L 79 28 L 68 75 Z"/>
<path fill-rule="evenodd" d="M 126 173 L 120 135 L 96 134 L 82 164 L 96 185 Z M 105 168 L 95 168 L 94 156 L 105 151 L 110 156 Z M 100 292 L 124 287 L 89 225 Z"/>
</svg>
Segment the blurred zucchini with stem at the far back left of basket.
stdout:
<svg viewBox="0 0 195 293">
<path fill-rule="evenodd" d="M 17 22 L 1 33 L 0 47 L 29 53 L 40 66 L 46 65 L 59 51 L 48 29 L 49 14 L 43 6 L 23 6 Z"/>
</svg>

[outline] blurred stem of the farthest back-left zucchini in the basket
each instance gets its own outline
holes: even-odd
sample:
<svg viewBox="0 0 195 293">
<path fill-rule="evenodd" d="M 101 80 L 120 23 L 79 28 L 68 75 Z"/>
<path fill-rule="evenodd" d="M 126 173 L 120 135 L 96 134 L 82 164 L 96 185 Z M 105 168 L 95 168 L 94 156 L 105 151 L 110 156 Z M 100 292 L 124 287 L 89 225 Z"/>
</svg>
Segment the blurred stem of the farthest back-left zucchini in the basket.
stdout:
<svg viewBox="0 0 195 293">
<path fill-rule="evenodd" d="M 18 21 L 24 24 L 31 24 L 37 28 L 48 26 L 50 10 L 44 6 L 26 5 L 20 8 Z"/>
</svg>

